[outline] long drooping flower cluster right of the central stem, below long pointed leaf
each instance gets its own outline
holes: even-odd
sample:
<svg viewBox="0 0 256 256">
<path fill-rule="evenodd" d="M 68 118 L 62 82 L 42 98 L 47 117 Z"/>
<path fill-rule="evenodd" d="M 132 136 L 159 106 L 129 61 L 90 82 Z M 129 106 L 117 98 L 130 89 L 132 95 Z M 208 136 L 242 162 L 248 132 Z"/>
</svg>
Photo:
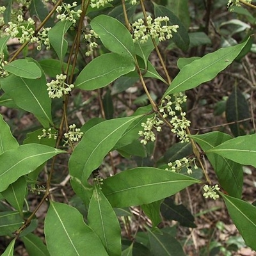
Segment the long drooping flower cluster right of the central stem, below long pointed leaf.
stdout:
<svg viewBox="0 0 256 256">
<path fill-rule="evenodd" d="M 172 132 L 177 134 L 181 143 L 189 142 L 188 134 L 186 132 L 187 127 L 190 125 L 190 121 L 186 118 L 186 113 L 182 111 L 181 104 L 186 102 L 187 97 L 183 93 L 174 93 L 174 100 L 170 95 L 167 95 L 161 102 L 159 108 L 160 113 L 163 114 L 163 118 L 172 116 L 170 123 L 172 124 Z M 176 112 L 179 111 L 180 115 L 177 116 Z"/>
</svg>

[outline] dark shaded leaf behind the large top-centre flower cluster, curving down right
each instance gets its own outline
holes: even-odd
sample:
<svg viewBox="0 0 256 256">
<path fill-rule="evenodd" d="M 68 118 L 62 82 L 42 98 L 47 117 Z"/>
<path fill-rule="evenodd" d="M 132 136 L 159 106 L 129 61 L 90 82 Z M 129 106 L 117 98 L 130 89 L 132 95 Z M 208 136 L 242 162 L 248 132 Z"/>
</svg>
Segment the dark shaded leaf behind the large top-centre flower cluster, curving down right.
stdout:
<svg viewBox="0 0 256 256">
<path fill-rule="evenodd" d="M 171 12 L 168 8 L 158 5 L 156 3 L 154 4 L 154 12 L 155 12 L 155 17 L 164 17 L 167 16 L 169 18 L 169 21 L 167 22 L 167 26 L 172 26 L 172 25 L 179 25 L 179 28 L 177 29 L 177 32 L 172 33 L 173 35 L 173 42 L 182 49 L 182 51 L 187 51 L 189 47 L 189 36 L 186 28 L 180 22 L 178 17 Z"/>
</svg>

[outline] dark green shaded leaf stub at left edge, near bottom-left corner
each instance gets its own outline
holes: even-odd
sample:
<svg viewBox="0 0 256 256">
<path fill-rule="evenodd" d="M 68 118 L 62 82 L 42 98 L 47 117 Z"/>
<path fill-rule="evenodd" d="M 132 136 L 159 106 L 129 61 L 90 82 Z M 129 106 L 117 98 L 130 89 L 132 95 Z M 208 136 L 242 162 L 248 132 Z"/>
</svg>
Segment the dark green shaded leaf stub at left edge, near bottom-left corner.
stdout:
<svg viewBox="0 0 256 256">
<path fill-rule="evenodd" d="M 21 227 L 23 222 L 19 212 L 0 212 L 0 236 L 13 237 L 13 232 Z"/>
</svg>

